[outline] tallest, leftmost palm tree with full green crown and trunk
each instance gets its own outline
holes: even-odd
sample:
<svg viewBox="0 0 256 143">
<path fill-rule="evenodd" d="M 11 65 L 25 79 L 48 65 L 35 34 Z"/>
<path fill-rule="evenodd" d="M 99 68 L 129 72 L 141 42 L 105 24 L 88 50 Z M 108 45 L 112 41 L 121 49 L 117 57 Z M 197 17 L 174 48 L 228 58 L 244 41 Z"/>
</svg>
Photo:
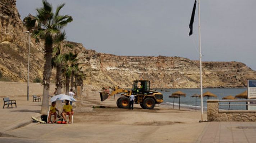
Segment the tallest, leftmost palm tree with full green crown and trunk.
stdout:
<svg viewBox="0 0 256 143">
<path fill-rule="evenodd" d="M 69 15 L 59 15 L 60 9 L 63 8 L 65 4 L 61 4 L 57 7 L 55 13 L 52 12 L 52 6 L 47 0 L 42 0 L 43 6 L 37 8 L 37 15 L 33 16 L 29 14 L 24 18 L 25 25 L 28 30 L 32 32 L 32 37 L 43 39 L 45 43 L 45 65 L 44 65 L 44 75 L 43 75 L 43 99 L 41 114 L 46 114 L 49 109 L 49 85 L 51 77 L 51 58 L 52 58 L 52 45 L 56 35 L 61 32 L 68 23 L 73 21 L 72 17 Z"/>
</svg>

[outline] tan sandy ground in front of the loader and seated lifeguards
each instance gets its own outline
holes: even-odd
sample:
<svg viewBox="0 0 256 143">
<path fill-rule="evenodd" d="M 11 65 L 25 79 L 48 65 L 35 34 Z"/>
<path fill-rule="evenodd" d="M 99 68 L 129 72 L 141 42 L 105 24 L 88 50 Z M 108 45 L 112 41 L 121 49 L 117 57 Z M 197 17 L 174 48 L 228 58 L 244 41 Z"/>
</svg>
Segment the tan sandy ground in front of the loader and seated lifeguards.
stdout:
<svg viewBox="0 0 256 143">
<path fill-rule="evenodd" d="M 22 139 L 36 137 L 42 142 L 193 143 L 206 126 L 206 123 L 198 123 L 200 112 L 161 105 L 147 110 L 138 104 L 134 104 L 134 110 L 120 109 L 116 107 L 117 96 L 115 101 L 110 98 L 100 102 L 98 92 L 84 94 L 82 108 L 75 110 L 74 124 L 31 123 L 6 134 Z M 100 105 L 105 108 L 92 108 Z"/>
</svg>

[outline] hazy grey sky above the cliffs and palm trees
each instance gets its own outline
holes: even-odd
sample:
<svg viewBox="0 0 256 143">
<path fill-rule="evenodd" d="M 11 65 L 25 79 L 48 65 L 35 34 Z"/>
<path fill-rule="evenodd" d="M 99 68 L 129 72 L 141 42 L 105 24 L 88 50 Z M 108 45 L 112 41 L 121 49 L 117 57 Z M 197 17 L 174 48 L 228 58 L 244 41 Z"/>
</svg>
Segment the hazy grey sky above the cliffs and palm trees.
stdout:
<svg viewBox="0 0 256 143">
<path fill-rule="evenodd" d="M 198 5 L 194 0 L 48 0 L 73 17 L 67 40 L 101 53 L 180 56 L 199 60 Z M 256 70 L 256 0 L 201 0 L 202 61 L 239 61 Z M 17 0 L 21 19 L 41 0 Z"/>
</svg>

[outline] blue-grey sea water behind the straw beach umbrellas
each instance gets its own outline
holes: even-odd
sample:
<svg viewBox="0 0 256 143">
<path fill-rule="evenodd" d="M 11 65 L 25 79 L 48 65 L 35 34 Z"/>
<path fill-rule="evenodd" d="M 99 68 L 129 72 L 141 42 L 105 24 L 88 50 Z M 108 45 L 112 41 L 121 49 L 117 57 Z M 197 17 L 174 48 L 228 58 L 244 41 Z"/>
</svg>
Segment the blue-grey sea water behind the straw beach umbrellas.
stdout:
<svg viewBox="0 0 256 143">
<path fill-rule="evenodd" d="M 181 96 L 180 97 L 180 107 L 185 108 L 192 108 L 195 109 L 196 107 L 196 98 L 191 97 L 193 94 L 197 93 L 200 94 L 200 88 L 196 89 L 162 89 L 163 91 L 160 91 L 161 89 L 157 89 L 158 92 L 163 93 L 164 96 L 164 102 L 162 104 L 170 105 L 171 108 L 173 107 L 173 98 L 169 98 L 169 95 L 171 95 L 173 92 L 182 91 L 186 93 L 186 97 Z M 165 90 L 169 90 L 170 92 L 165 92 Z M 209 91 L 213 94 L 217 95 L 217 98 L 209 97 L 209 99 L 222 99 L 223 97 L 227 95 L 233 95 L 236 96 L 239 93 L 244 92 L 247 90 L 246 88 L 204 88 L 203 93 Z M 204 110 L 207 109 L 206 107 L 206 100 L 207 97 L 203 98 L 203 106 Z M 229 104 L 228 102 L 220 103 L 220 104 Z M 231 104 L 246 104 L 246 102 L 231 102 Z M 175 98 L 174 105 L 179 105 L 179 98 Z M 201 98 L 197 97 L 197 109 L 201 109 Z M 177 108 L 177 107 L 174 107 Z M 219 109 L 227 110 L 227 105 L 220 105 Z M 246 105 L 230 105 L 230 110 L 246 110 Z"/>
</svg>

